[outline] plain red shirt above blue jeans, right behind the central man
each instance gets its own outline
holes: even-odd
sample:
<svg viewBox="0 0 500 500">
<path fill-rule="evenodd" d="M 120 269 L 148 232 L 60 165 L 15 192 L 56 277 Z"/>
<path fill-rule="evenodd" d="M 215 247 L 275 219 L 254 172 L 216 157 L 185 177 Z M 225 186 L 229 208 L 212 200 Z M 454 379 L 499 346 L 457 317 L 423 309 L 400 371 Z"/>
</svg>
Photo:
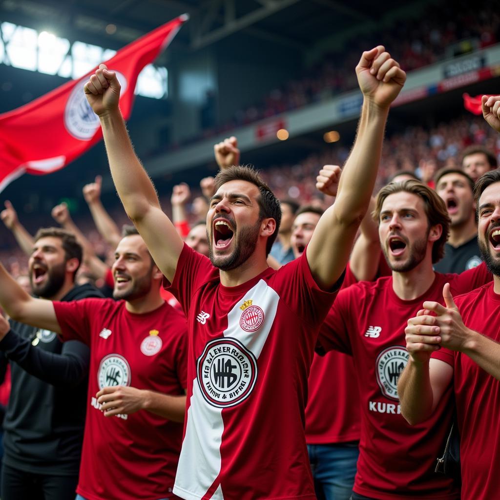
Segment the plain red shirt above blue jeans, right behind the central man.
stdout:
<svg viewBox="0 0 500 500">
<path fill-rule="evenodd" d="M 349 264 L 340 289 L 356 282 Z M 331 350 L 314 353 L 305 407 L 307 444 L 359 441 L 359 392 L 352 356 Z M 331 411 L 334 407 L 335 411 Z"/>
</svg>

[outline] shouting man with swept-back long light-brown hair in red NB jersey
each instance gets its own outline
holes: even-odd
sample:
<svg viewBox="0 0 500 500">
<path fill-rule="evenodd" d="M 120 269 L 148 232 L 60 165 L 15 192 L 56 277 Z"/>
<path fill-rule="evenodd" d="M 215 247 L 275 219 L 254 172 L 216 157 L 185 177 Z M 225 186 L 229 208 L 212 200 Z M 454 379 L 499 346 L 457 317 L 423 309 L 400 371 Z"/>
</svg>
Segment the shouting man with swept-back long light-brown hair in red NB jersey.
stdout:
<svg viewBox="0 0 500 500">
<path fill-rule="evenodd" d="M 318 352 L 335 349 L 354 360 L 361 437 L 352 499 L 457 499 L 452 479 L 433 472 L 449 430 L 449 390 L 427 422 L 410 427 L 400 415 L 397 380 L 408 360 L 404 327 L 421 307 L 422 297 L 441 298 L 445 282 L 455 293 L 465 292 L 490 280 L 491 274 L 484 264 L 462 274 L 434 272 L 449 217 L 442 199 L 419 181 L 384 186 L 373 219 L 392 273 L 340 290 L 317 346 Z"/>
</svg>

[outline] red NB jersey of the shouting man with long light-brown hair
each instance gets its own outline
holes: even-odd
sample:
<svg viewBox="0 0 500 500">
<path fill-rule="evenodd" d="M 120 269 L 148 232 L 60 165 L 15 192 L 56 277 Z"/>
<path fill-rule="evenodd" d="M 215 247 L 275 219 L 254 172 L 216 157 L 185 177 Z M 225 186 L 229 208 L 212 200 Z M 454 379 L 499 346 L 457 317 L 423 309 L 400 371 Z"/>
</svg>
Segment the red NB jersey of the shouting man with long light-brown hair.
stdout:
<svg viewBox="0 0 500 500">
<path fill-rule="evenodd" d="M 484 264 L 462 274 L 439 274 L 413 300 L 400 299 L 392 276 L 361 281 L 338 293 L 319 332 L 319 348 L 352 354 L 361 399 L 361 439 L 353 490 L 390 498 L 458 498 L 452 480 L 434 472 L 449 430 L 450 390 L 432 417 L 410 426 L 400 414 L 397 381 L 408 360 L 404 328 L 425 300 L 442 302 L 449 282 L 453 293 L 491 279 Z"/>
</svg>

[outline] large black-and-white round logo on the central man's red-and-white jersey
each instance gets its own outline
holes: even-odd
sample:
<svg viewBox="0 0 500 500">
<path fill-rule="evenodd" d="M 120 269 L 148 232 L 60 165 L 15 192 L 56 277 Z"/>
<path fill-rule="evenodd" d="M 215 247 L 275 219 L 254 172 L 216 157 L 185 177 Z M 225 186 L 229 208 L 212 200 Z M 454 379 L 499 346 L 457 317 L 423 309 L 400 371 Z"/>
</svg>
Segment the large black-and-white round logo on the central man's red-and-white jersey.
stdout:
<svg viewBox="0 0 500 500">
<path fill-rule="evenodd" d="M 209 404 L 234 406 L 250 395 L 257 379 L 257 360 L 239 340 L 215 338 L 198 357 L 197 379 Z"/>
</svg>

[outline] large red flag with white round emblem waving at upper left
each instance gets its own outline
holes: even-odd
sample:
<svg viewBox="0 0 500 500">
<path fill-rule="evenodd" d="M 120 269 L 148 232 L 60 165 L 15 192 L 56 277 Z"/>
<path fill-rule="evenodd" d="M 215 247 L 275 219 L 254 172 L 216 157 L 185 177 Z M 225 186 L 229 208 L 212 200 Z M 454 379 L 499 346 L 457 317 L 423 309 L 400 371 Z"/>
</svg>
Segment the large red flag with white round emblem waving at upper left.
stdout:
<svg viewBox="0 0 500 500">
<path fill-rule="evenodd" d="M 106 61 L 121 84 L 119 105 L 124 119 L 132 110 L 139 72 L 170 43 L 185 20 L 186 14 L 157 27 Z M 62 168 L 101 139 L 99 119 L 83 92 L 95 69 L 0 114 L 0 191 L 24 172 L 40 175 Z"/>
</svg>

